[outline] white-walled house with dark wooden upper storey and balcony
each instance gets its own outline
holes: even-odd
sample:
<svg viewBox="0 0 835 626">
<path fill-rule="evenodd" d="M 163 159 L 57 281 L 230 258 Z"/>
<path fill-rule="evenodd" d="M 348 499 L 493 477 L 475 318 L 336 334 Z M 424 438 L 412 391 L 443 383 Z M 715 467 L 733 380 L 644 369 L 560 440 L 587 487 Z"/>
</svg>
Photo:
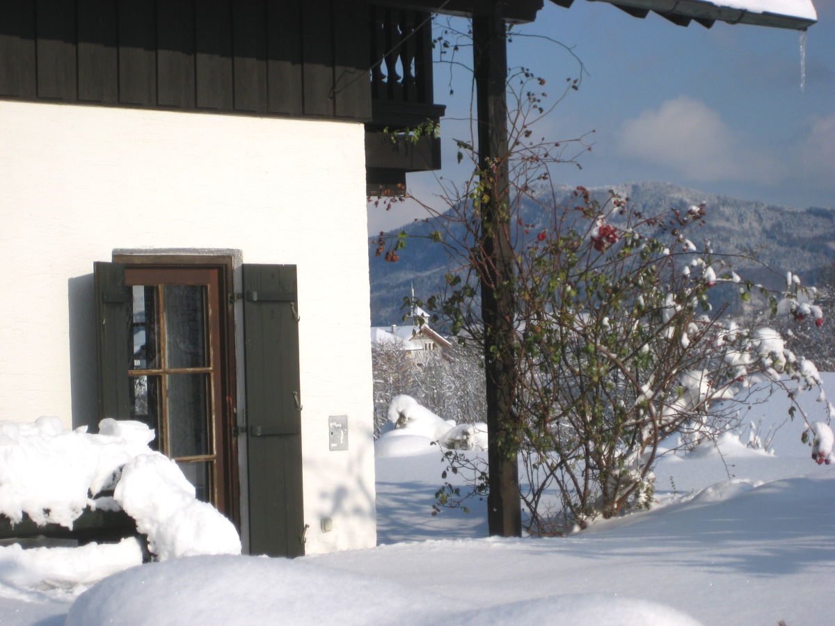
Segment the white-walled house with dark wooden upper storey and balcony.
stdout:
<svg viewBox="0 0 835 626">
<path fill-rule="evenodd" d="M 426 12 L 541 5 L 0 0 L 0 418 L 148 423 L 251 553 L 374 545 L 367 322 L 319 329 L 439 165 L 380 130 L 443 114 Z"/>
</svg>

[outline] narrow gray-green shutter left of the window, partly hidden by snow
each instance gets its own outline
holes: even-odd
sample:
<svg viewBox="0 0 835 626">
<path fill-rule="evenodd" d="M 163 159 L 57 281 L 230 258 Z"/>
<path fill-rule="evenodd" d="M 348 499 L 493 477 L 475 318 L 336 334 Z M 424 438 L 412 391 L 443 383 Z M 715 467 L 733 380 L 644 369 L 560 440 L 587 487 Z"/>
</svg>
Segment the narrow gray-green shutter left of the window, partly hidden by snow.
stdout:
<svg viewBox="0 0 835 626">
<path fill-rule="evenodd" d="M 99 420 L 130 419 L 128 291 L 124 265 L 94 264 L 96 343 L 99 350 Z"/>
</svg>

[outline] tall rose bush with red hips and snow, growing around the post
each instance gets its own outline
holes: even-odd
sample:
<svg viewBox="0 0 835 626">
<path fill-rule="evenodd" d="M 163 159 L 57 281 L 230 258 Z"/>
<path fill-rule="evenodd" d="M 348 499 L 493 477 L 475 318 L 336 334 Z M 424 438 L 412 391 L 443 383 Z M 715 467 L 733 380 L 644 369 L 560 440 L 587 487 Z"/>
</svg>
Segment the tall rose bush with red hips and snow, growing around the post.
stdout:
<svg viewBox="0 0 835 626">
<path fill-rule="evenodd" d="M 442 294 L 417 305 L 433 312 L 433 326 L 483 346 L 488 480 L 496 490 L 490 523 L 498 533 L 518 532 L 508 508 L 517 508 L 518 482 L 533 533 L 564 533 L 646 507 L 662 442 L 677 435 L 695 447 L 736 427 L 734 402 L 757 386 L 782 387 L 793 399 L 820 381 L 778 331 L 723 317 L 727 294 L 746 302 L 759 291 L 773 313 L 823 323 L 796 276 L 782 294 L 770 293 L 734 271 L 736 251 L 696 245 L 691 231 L 707 219 L 704 205 L 645 215 L 628 198 L 584 187 L 560 204 L 551 169 L 586 146 L 583 138 L 538 139 L 542 85 L 527 68 L 509 74 L 506 144 L 497 134 L 457 140 L 472 176 L 444 180 L 423 204 L 437 228 L 428 238 L 458 270 Z M 576 87 L 569 81 L 565 92 Z M 489 158 L 475 148 L 487 139 Z M 406 240 L 405 232 L 392 237 L 386 258 Z M 385 246 L 381 235 L 378 251 Z M 458 457 L 450 458 L 457 469 Z M 540 507 L 551 489 L 560 494 L 558 510 Z"/>
</svg>

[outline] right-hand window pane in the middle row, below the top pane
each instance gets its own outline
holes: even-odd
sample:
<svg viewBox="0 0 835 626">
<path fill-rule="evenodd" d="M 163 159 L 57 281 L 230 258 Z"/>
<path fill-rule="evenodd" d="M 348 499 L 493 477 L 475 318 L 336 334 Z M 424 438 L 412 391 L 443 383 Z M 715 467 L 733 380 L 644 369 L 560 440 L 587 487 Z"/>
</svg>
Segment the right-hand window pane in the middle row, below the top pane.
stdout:
<svg viewBox="0 0 835 626">
<path fill-rule="evenodd" d="M 209 375 L 170 374 L 167 382 L 170 456 L 210 454 Z"/>
</svg>

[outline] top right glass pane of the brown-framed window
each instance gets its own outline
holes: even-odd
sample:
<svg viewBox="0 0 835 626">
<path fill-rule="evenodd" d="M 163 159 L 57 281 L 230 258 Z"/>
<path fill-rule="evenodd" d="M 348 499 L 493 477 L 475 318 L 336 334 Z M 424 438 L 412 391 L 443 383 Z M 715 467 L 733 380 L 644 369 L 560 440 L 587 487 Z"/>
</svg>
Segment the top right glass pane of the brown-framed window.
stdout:
<svg viewBox="0 0 835 626">
<path fill-rule="evenodd" d="M 205 367 L 204 285 L 165 285 L 165 360 L 170 368 Z"/>
</svg>

